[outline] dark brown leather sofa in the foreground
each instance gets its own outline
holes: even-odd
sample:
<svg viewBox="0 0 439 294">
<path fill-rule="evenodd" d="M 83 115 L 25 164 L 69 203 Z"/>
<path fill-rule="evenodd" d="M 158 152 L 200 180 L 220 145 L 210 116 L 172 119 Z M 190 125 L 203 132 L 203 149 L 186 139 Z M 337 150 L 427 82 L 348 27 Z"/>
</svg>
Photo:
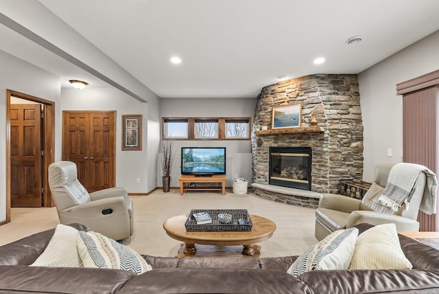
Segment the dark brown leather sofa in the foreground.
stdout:
<svg viewBox="0 0 439 294">
<path fill-rule="evenodd" d="M 72 225 L 88 230 L 82 225 Z M 368 225 L 359 225 L 364 231 Z M 399 236 L 412 270 L 286 273 L 296 256 L 166 258 L 143 256 L 141 275 L 116 269 L 28 267 L 54 229 L 0 247 L 0 293 L 439 293 L 439 251 Z"/>
</svg>

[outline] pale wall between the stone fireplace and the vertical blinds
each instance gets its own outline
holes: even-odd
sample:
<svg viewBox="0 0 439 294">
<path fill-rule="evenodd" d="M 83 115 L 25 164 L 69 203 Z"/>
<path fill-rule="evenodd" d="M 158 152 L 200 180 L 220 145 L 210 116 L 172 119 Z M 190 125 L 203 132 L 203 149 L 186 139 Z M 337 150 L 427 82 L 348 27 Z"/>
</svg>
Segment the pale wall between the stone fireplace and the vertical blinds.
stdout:
<svg viewBox="0 0 439 294">
<path fill-rule="evenodd" d="M 359 74 L 364 124 L 364 181 L 381 162 L 401 162 L 403 99 L 396 84 L 439 69 L 439 31 Z M 393 157 L 388 157 L 388 148 Z"/>
</svg>

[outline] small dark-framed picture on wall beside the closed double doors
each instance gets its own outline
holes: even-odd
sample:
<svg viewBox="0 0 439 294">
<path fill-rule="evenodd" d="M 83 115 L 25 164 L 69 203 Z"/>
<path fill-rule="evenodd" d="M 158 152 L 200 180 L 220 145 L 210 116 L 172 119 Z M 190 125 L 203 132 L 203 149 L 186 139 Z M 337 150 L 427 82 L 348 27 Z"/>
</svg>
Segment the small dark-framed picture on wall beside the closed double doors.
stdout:
<svg viewBox="0 0 439 294">
<path fill-rule="evenodd" d="M 142 115 L 122 115 L 122 150 L 142 150 Z"/>
</svg>

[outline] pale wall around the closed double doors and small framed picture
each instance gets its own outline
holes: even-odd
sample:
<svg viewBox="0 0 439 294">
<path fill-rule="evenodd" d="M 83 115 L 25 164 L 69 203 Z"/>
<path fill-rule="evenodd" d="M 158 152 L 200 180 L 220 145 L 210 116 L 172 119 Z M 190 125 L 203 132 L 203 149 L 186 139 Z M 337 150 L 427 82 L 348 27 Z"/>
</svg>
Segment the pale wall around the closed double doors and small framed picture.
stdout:
<svg viewBox="0 0 439 294">
<path fill-rule="evenodd" d="M 156 155 L 160 129 L 155 123 L 158 113 L 157 99 L 139 102 L 115 88 L 92 88 L 82 90 L 62 88 L 62 111 L 117 111 L 116 120 L 116 185 L 125 186 L 129 193 L 146 193 L 156 188 L 155 158 L 150 164 L 151 154 Z M 142 150 L 122 150 L 122 115 L 142 115 Z M 62 118 L 59 124 L 62 124 Z M 151 140 L 150 140 L 151 138 Z M 155 149 L 154 149 L 155 148 Z M 137 183 L 140 179 L 140 183 Z"/>
</svg>

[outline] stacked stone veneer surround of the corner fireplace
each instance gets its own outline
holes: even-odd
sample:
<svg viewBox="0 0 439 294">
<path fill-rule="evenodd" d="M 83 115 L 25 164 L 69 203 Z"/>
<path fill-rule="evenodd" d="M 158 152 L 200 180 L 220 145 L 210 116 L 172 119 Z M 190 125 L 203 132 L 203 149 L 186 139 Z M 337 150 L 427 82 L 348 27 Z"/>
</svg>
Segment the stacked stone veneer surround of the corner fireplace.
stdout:
<svg viewBox="0 0 439 294">
<path fill-rule="evenodd" d="M 314 74 L 264 87 L 257 102 L 254 125 L 271 128 L 272 107 L 302 102 L 302 126 L 312 113 L 323 133 L 259 135 L 252 132 L 254 183 L 268 184 L 268 147 L 312 148 L 311 191 L 337 192 L 342 179 L 363 176 L 363 125 L 357 75 Z"/>
</svg>

